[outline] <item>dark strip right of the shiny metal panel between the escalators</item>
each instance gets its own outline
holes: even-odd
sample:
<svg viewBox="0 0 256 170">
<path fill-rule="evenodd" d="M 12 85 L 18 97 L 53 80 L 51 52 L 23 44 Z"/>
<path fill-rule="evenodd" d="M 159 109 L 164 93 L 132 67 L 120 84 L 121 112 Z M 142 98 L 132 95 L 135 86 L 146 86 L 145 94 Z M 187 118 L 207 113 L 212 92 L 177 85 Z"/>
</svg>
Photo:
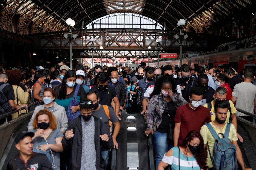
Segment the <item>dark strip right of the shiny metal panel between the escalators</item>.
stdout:
<svg viewBox="0 0 256 170">
<path fill-rule="evenodd" d="M 134 114 L 136 118 L 137 141 L 139 152 L 139 169 L 149 169 L 148 140 L 145 136 L 146 124 L 142 114 Z"/>
</svg>

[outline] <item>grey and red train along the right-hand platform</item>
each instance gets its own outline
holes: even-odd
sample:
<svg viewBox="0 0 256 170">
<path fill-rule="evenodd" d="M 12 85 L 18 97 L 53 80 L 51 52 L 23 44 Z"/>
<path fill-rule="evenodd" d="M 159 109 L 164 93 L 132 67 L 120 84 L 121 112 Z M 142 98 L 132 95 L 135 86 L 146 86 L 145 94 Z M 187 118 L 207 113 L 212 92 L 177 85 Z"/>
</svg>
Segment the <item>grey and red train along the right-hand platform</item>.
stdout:
<svg viewBox="0 0 256 170">
<path fill-rule="evenodd" d="M 216 48 L 216 51 L 217 49 L 218 48 Z M 195 69 L 203 64 L 207 64 L 209 68 L 217 68 L 222 64 L 232 64 L 232 66 L 239 72 L 249 66 L 256 68 L 256 47 L 241 48 L 186 57 L 182 58 L 182 64 L 188 64 L 190 68 Z M 179 59 L 159 61 L 159 65 L 160 67 L 165 65 L 180 66 L 180 61 Z M 157 66 L 157 61 L 149 63 L 149 66 Z"/>
</svg>

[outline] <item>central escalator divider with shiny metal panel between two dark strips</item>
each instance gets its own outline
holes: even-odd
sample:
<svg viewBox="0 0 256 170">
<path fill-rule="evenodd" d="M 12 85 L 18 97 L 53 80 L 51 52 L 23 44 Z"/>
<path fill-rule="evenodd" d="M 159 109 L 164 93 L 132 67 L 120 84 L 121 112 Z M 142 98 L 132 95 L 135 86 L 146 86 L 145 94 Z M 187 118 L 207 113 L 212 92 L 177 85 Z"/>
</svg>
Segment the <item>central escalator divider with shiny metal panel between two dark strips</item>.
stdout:
<svg viewBox="0 0 256 170">
<path fill-rule="evenodd" d="M 146 137 L 142 114 L 122 114 L 117 137 L 118 149 L 112 151 L 112 170 L 154 170 L 152 135 Z"/>
</svg>

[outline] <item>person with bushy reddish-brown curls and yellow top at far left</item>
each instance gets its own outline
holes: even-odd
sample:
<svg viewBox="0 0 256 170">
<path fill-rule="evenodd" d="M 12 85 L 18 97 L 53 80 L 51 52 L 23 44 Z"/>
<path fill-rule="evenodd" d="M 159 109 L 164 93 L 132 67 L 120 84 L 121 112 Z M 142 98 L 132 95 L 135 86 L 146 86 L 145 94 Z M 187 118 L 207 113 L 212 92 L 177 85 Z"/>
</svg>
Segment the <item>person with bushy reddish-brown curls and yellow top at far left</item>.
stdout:
<svg viewBox="0 0 256 170">
<path fill-rule="evenodd" d="M 22 73 L 20 70 L 7 70 L 6 74 L 8 75 L 8 83 L 12 85 L 14 90 L 14 104 L 20 105 L 21 107 L 28 108 L 28 98 L 30 97 L 31 89 L 27 89 L 26 92 L 19 86 L 20 78 Z M 19 112 L 12 114 L 12 119 L 17 118 L 19 115 L 27 113 L 27 109 L 23 109 Z"/>
</svg>

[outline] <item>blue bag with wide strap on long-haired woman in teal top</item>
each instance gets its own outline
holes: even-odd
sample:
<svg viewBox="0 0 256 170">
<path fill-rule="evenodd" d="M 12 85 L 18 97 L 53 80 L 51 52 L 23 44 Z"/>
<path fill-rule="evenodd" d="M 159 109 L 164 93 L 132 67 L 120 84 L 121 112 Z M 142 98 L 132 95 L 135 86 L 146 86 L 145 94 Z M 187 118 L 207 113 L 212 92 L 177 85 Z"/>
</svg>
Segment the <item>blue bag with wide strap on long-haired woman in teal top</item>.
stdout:
<svg viewBox="0 0 256 170">
<path fill-rule="evenodd" d="M 79 102 L 77 101 L 77 94 L 79 91 L 80 85 L 76 85 L 75 93 L 73 96 L 73 99 L 69 102 L 68 104 L 68 112 L 67 112 L 67 117 L 68 117 L 68 122 L 71 120 L 77 118 L 80 115 L 80 110 L 77 110 L 75 113 L 72 113 L 72 110 L 70 109 L 72 106 L 78 106 Z"/>
</svg>

